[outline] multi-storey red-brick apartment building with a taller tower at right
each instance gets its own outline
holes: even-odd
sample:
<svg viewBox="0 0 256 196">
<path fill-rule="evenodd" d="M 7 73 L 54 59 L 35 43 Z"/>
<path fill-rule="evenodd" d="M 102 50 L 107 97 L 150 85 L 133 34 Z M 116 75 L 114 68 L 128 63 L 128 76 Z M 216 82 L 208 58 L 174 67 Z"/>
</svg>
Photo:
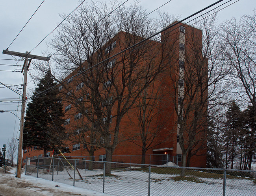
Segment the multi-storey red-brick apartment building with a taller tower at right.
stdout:
<svg viewBox="0 0 256 196">
<path fill-rule="evenodd" d="M 63 103 L 66 120 L 65 144 L 69 151 L 63 151 L 66 157 L 87 156 L 89 159 L 93 152 L 95 158 L 91 160 L 104 161 L 106 154 L 112 153 L 111 161 L 130 163 L 132 159 L 133 163 L 141 163 L 141 156 L 124 155 L 141 155 L 144 149 L 146 155 L 156 155 L 146 156 L 146 164 L 164 164 L 167 155 L 170 161 L 182 161 L 179 122 L 193 123 L 189 118 L 193 112 L 183 119 L 183 104 L 188 102 L 184 91 L 187 72 L 184 70 L 196 71 L 189 67 L 189 58 L 195 58 L 193 49 L 198 47 L 202 50 L 202 31 L 186 24 L 177 24 L 163 31 L 159 40 L 148 40 L 147 45 L 138 45 L 134 51 L 131 49 L 112 57 L 140 40 L 143 38 L 119 31 L 59 86 L 62 97 L 59 101 Z M 192 46 L 192 43 L 195 45 Z M 202 55 L 201 51 L 197 53 Z M 105 59 L 108 60 L 97 65 Z M 129 76 L 134 82 L 124 84 L 123 78 L 129 79 L 125 75 L 129 74 L 134 62 L 137 67 L 133 69 L 136 70 Z M 93 71 L 86 71 L 93 65 L 97 65 Z M 126 65 L 129 65 L 129 69 Z M 207 72 L 206 65 L 207 62 L 203 63 Z M 155 74 L 157 71 L 158 74 Z M 152 78 L 145 77 L 147 74 L 153 75 Z M 139 77 L 141 80 L 138 80 Z M 203 93 L 202 97 L 205 97 L 207 91 Z M 193 99 L 193 103 L 196 102 L 197 99 Z M 130 108 L 127 107 L 129 104 Z M 129 110 L 119 115 L 126 107 Z M 202 110 L 206 114 L 207 105 Z M 202 117 L 201 121 L 205 123 L 206 117 Z M 118 128 L 117 122 L 120 123 Z M 197 127 L 197 130 L 201 129 L 204 127 Z M 187 134 L 184 133 L 183 137 L 186 140 Z M 200 131 L 195 137 L 206 138 Z M 193 148 L 199 150 L 191 157 L 189 166 L 206 167 L 206 141 L 199 141 Z M 24 161 L 26 157 L 43 156 L 43 150 L 37 147 L 26 148 L 23 153 Z M 46 156 L 52 156 L 52 152 L 47 152 Z M 181 165 L 181 162 L 178 164 Z"/>
</svg>

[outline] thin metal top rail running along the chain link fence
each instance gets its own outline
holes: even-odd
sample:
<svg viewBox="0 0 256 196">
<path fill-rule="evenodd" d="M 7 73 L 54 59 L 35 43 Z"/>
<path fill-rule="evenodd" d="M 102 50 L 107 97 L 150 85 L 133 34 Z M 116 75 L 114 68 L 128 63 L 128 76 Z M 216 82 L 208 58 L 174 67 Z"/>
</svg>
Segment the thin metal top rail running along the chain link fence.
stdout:
<svg viewBox="0 0 256 196">
<path fill-rule="evenodd" d="M 27 158 L 35 158 L 35 157 L 27 157 Z M 35 159 L 37 159 L 36 157 Z M 176 168 L 176 169 L 197 169 L 197 170 L 221 170 L 221 171 L 236 171 L 236 172 L 256 172 L 254 170 L 239 170 L 239 169 L 222 169 L 222 168 L 204 168 L 204 167 L 179 167 L 179 166 L 167 166 L 167 165 L 148 165 L 148 164 L 140 164 L 140 163 L 119 163 L 119 162 L 109 162 L 109 161 L 90 161 L 90 160 L 82 160 L 82 159 L 65 159 L 60 157 L 39 157 L 41 159 L 43 158 L 49 158 L 49 159 L 61 159 L 61 160 L 72 160 L 72 161 L 86 161 L 86 162 L 94 162 L 94 163 L 115 163 L 115 164 L 122 164 L 122 165 L 140 165 L 140 166 L 150 166 L 150 167 L 169 167 L 169 168 Z"/>
</svg>

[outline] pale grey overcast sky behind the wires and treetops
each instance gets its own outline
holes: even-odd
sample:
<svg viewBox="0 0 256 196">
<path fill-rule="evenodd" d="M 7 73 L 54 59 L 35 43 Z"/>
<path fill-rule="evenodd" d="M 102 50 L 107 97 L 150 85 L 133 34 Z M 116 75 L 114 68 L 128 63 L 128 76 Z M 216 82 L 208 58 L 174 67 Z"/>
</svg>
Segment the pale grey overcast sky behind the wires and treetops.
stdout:
<svg viewBox="0 0 256 196">
<path fill-rule="evenodd" d="M 6 49 L 13 39 L 17 36 L 22 27 L 26 24 L 28 19 L 33 15 L 37 7 L 43 0 L 8 0 L 0 1 L 0 82 L 4 84 L 20 85 L 22 84 L 22 73 L 12 72 L 13 70 L 20 69 L 17 66 L 7 65 L 23 65 L 23 61 L 17 62 L 15 60 L 2 60 L 2 59 L 14 59 L 10 55 L 2 54 L 2 50 Z M 118 0 L 122 3 L 125 0 Z M 185 18 L 198 10 L 214 3 L 217 0 L 172 0 L 168 4 L 160 8 L 161 11 L 165 11 L 170 15 L 180 15 L 180 19 Z M 227 2 L 228 0 L 224 0 Z M 89 2 L 89 1 L 85 1 Z M 106 1 L 108 2 L 108 1 Z M 148 10 L 148 12 L 160 7 L 160 5 L 168 2 L 168 0 L 141 0 L 142 7 Z M 235 2 L 233 0 L 232 2 Z M 132 4 L 134 1 L 129 0 L 126 4 Z M 25 53 L 31 51 L 43 38 L 52 31 L 62 19 L 59 14 L 69 14 L 76 6 L 80 4 L 79 0 L 45 0 L 41 7 L 37 10 L 30 22 L 26 25 L 20 35 L 8 48 L 10 51 L 17 51 Z M 218 14 L 218 22 L 221 23 L 230 19 L 232 16 L 239 19 L 242 15 L 251 15 L 252 10 L 256 7 L 255 0 L 239 0 L 238 2 L 223 9 Z M 151 16 L 156 16 L 154 12 Z M 46 38 L 37 48 L 35 48 L 31 54 L 43 55 L 44 51 L 52 51 L 47 48 L 46 42 L 50 41 L 52 35 Z M 19 57 L 17 57 L 19 59 Z M 4 70 L 4 71 L 3 71 Z M 33 74 L 34 70 L 30 70 Z M 0 110 L 7 110 L 13 112 L 20 118 L 21 106 L 18 103 L 4 103 L 9 98 L 19 99 L 19 95 L 8 88 L 3 88 L 0 84 Z M 31 94 L 32 89 L 35 87 L 32 79 L 28 77 L 28 93 Z M 21 86 L 13 86 L 16 92 L 22 94 Z M 15 110 L 19 110 L 18 112 Z M 0 147 L 3 144 L 7 144 L 7 140 L 11 137 L 19 137 L 20 121 L 14 114 L 9 112 L 0 113 Z M 15 123 L 16 122 L 16 123 Z"/>
</svg>

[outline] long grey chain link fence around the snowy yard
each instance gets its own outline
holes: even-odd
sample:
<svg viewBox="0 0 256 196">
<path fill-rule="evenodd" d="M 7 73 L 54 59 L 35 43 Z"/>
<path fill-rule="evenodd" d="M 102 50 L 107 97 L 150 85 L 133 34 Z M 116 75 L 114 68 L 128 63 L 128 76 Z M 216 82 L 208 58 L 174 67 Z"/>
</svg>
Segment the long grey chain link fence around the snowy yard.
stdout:
<svg viewBox="0 0 256 196">
<path fill-rule="evenodd" d="M 256 195 L 256 171 L 170 165 L 34 157 L 25 175 L 121 196 Z"/>
</svg>

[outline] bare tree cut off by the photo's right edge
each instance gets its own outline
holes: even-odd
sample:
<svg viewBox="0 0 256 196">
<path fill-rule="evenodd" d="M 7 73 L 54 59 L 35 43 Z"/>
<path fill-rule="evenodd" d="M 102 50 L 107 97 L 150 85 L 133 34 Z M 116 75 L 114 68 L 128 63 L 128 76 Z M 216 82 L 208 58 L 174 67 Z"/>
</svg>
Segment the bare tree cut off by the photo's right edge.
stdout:
<svg viewBox="0 0 256 196">
<path fill-rule="evenodd" d="M 239 99 L 252 106 L 254 123 L 250 127 L 253 142 L 249 147 L 250 165 L 256 145 L 256 11 L 252 15 L 244 15 L 240 20 L 232 18 L 221 26 L 220 36 L 224 50 L 226 64 L 232 66 L 230 72 L 232 84 Z"/>
</svg>

